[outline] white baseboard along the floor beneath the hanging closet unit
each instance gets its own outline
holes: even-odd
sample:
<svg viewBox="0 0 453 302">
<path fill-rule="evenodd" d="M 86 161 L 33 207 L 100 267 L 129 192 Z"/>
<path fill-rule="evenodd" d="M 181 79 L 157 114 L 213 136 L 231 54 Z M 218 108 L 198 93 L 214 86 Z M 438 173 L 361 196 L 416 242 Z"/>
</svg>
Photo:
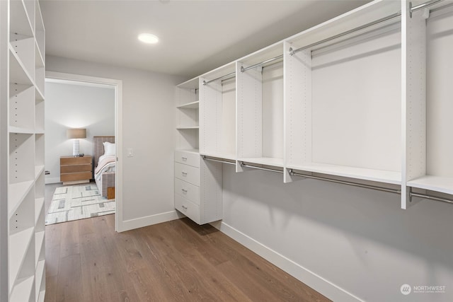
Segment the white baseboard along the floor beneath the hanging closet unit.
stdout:
<svg viewBox="0 0 453 302">
<path fill-rule="evenodd" d="M 348 291 L 345 291 L 330 281 L 323 279 L 323 277 L 318 274 L 311 272 L 309 269 L 298 265 L 296 262 L 280 255 L 278 252 L 275 252 L 275 250 L 268 248 L 241 231 L 236 230 L 236 228 L 233 228 L 221 221 L 215 221 L 210 224 L 226 236 L 233 238 L 237 242 L 241 243 L 241 245 L 244 245 L 246 248 L 256 252 L 256 254 L 260 255 L 265 260 L 268 260 L 273 265 L 280 267 L 283 271 L 292 275 L 299 281 L 302 281 L 312 289 L 319 291 L 319 293 L 323 294 L 327 298 L 330 298 L 332 301 L 362 301 L 360 298 L 350 294 Z"/>
</svg>

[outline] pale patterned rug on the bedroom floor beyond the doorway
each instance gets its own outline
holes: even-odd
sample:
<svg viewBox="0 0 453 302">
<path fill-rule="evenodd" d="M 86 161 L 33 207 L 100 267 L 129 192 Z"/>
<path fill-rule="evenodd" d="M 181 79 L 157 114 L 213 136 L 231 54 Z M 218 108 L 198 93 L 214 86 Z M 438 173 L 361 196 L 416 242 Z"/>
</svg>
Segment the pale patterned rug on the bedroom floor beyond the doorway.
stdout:
<svg viewBox="0 0 453 302">
<path fill-rule="evenodd" d="M 45 224 L 115 214 L 115 199 L 106 199 L 96 184 L 57 187 Z"/>
</svg>

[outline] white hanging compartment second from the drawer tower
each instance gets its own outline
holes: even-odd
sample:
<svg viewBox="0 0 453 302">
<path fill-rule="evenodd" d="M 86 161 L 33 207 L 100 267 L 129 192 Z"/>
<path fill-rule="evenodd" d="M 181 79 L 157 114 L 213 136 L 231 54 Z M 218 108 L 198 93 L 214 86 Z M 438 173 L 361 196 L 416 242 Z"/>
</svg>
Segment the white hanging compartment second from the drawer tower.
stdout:
<svg viewBox="0 0 453 302">
<path fill-rule="evenodd" d="M 242 161 L 284 165 L 282 57 L 279 42 L 236 63 L 238 171 Z"/>
</svg>

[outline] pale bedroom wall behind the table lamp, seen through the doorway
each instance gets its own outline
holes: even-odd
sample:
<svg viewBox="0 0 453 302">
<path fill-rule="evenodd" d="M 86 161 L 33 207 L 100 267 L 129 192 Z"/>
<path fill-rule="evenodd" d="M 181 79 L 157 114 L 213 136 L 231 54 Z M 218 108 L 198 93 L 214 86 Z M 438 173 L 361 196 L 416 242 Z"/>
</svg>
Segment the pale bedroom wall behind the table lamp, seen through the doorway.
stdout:
<svg viewBox="0 0 453 302">
<path fill-rule="evenodd" d="M 93 136 L 115 135 L 115 89 L 69 83 L 45 83 L 46 183 L 59 182 L 59 158 L 71 156 L 68 128 L 86 128 L 80 152 L 93 155 Z"/>
</svg>

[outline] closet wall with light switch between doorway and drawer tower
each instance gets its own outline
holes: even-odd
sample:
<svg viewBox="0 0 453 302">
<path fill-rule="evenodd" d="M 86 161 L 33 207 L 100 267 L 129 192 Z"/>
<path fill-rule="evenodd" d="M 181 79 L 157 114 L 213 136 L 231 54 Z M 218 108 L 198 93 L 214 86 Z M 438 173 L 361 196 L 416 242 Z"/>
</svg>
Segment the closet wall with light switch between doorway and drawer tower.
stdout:
<svg viewBox="0 0 453 302">
<path fill-rule="evenodd" d="M 122 226 L 138 228 L 178 218 L 173 207 L 176 76 L 46 57 L 46 70 L 122 80 Z M 132 148 L 134 157 L 127 157 Z"/>
</svg>

